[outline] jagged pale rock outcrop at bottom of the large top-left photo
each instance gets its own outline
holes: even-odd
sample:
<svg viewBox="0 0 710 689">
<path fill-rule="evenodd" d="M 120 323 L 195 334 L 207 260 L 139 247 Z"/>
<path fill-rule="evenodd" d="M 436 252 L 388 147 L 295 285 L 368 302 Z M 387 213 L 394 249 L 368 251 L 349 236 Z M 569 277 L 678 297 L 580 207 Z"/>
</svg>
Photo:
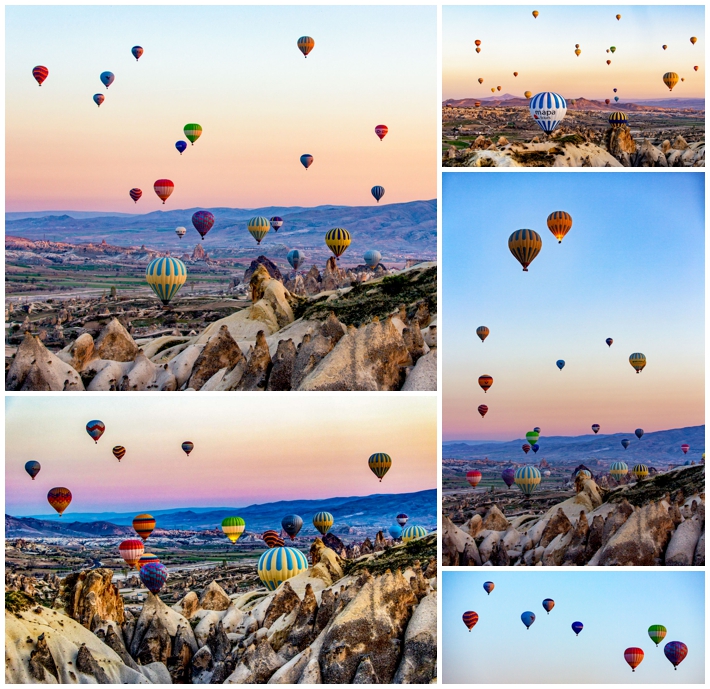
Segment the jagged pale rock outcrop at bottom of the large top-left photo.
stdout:
<svg viewBox="0 0 710 689">
<path fill-rule="evenodd" d="M 257 265 L 249 289 L 251 306 L 187 336 L 136 341 L 113 317 L 53 354 L 26 332 L 6 389 L 436 389 L 434 264 L 312 297 Z"/>
</svg>

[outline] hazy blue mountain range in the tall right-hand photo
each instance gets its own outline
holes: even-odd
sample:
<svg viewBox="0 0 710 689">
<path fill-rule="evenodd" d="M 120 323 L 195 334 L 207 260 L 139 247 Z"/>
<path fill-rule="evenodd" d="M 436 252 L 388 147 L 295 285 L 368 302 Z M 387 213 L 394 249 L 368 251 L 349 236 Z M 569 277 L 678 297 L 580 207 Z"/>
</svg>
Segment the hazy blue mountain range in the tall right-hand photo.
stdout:
<svg viewBox="0 0 710 689">
<path fill-rule="evenodd" d="M 644 464 L 682 464 L 690 459 L 699 461 L 705 452 L 705 426 L 674 428 L 666 431 L 645 433 L 641 440 L 634 431 L 604 435 L 540 436 L 537 454 L 523 453 L 525 438 L 507 442 L 478 443 L 477 441 L 448 442 L 443 444 L 444 459 L 483 459 L 493 461 L 537 463 L 543 458 L 550 464 L 583 462 L 585 459 L 623 460 Z M 631 441 L 624 450 L 621 441 Z M 680 449 L 683 443 L 690 445 L 687 455 Z"/>
</svg>

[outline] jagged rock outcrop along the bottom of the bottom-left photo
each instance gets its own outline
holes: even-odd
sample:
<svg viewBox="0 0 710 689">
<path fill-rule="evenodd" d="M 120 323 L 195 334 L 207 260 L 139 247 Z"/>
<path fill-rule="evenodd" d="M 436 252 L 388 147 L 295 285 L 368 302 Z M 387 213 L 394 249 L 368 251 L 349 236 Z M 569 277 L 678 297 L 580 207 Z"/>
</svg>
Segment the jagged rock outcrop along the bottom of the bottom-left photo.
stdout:
<svg viewBox="0 0 710 689">
<path fill-rule="evenodd" d="M 434 682 L 436 535 L 352 561 L 316 539 L 310 556 L 276 591 L 228 596 L 212 582 L 172 607 L 148 594 L 119 611 L 100 569 L 63 587 L 71 609 L 6 592 L 6 682 Z"/>
</svg>

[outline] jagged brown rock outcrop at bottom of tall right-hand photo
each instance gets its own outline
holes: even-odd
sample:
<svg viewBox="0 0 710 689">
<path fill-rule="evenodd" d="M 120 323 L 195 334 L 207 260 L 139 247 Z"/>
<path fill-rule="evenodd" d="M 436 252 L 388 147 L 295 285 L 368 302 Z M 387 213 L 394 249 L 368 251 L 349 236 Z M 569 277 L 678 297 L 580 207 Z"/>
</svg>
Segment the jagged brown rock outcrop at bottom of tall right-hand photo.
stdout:
<svg viewBox="0 0 710 689">
<path fill-rule="evenodd" d="M 449 565 L 705 564 L 705 467 L 680 467 L 612 491 L 592 479 L 543 515 L 495 505 L 461 527 L 443 517 Z"/>
</svg>

